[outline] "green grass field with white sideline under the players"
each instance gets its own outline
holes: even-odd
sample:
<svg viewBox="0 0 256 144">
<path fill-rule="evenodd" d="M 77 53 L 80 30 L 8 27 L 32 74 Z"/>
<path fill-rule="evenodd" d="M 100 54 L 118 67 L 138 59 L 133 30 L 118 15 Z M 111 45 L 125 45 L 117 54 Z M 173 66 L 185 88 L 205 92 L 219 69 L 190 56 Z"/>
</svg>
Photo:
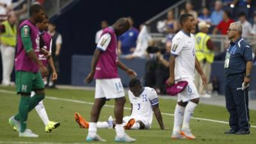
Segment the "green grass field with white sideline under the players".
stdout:
<svg viewBox="0 0 256 144">
<path fill-rule="evenodd" d="M 80 129 L 74 120 L 74 113 L 79 112 L 85 118 L 90 118 L 90 109 L 93 102 L 93 91 L 89 90 L 46 90 L 46 99 L 44 99 L 45 108 L 50 120 L 61 123 L 58 129 L 51 133 L 44 131 L 44 124 L 37 115 L 36 111 L 31 111 L 28 118 L 28 128 L 39 134 L 39 138 L 19 138 L 18 133 L 12 130 L 8 124 L 8 118 L 18 111 L 20 97 L 15 94 L 13 87 L 0 87 L 0 143 L 86 143 L 85 138 L 87 129 Z M 54 97 L 58 98 L 55 99 Z M 225 135 L 224 131 L 229 129 L 228 124 L 219 122 L 209 122 L 205 120 L 191 120 L 191 129 L 196 136 L 196 140 L 171 140 L 170 134 L 173 127 L 173 114 L 175 100 L 160 99 L 160 109 L 163 115 L 166 130 L 160 130 L 159 125 L 154 118 L 152 129 L 143 131 L 126 131 L 132 138 L 136 138 L 136 143 L 246 143 L 255 144 L 256 128 L 251 128 L 251 134 L 244 136 Z M 113 106 L 113 101 L 107 102 Z M 100 120 L 107 120 L 109 115 L 113 116 L 113 108 L 104 106 Z M 129 108 L 127 100 L 125 107 Z M 124 114 L 129 115 L 130 110 L 125 109 Z M 251 124 L 256 125 L 256 111 L 250 111 Z M 228 121 L 227 110 L 220 106 L 210 106 L 199 104 L 193 117 L 207 118 L 211 120 Z M 106 139 L 106 143 L 115 143 L 114 129 L 98 129 L 99 135 Z"/>
</svg>

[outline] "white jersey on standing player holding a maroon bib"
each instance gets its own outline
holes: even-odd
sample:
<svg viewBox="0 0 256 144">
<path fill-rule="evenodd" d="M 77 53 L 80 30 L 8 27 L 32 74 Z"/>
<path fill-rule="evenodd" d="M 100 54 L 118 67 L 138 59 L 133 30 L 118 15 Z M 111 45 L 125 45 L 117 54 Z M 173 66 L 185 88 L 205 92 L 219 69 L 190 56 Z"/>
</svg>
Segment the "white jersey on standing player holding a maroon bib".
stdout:
<svg viewBox="0 0 256 144">
<path fill-rule="evenodd" d="M 175 81 L 195 77 L 195 36 L 179 31 L 172 39 L 171 54 L 175 58 Z"/>
</svg>

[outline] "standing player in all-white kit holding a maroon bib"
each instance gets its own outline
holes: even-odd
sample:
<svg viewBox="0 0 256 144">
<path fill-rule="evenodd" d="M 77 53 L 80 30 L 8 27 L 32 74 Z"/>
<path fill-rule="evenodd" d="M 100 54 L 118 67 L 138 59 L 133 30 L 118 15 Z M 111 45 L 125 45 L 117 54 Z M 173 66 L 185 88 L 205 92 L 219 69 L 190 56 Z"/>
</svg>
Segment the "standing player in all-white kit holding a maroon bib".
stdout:
<svg viewBox="0 0 256 144">
<path fill-rule="evenodd" d="M 203 83 L 206 83 L 205 74 L 200 63 L 195 58 L 195 37 L 191 31 L 195 29 L 193 15 L 184 13 L 180 15 L 182 30 L 172 40 L 172 51 L 170 56 L 170 77 L 168 85 L 178 81 L 188 81 L 188 86 L 178 94 L 177 105 L 174 112 L 174 124 L 172 139 L 187 138 L 195 139 L 189 129 L 189 122 L 199 102 L 199 95 L 194 83 L 194 70 L 198 71 Z M 182 124 L 183 118 L 183 124 Z M 182 129 L 180 131 L 180 125 Z"/>
</svg>

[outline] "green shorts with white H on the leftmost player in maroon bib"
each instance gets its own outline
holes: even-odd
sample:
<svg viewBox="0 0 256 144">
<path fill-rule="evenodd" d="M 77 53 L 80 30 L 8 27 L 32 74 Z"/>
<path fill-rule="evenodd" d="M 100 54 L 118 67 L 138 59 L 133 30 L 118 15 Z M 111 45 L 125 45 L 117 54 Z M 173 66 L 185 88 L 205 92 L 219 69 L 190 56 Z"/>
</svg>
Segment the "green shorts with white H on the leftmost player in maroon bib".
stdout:
<svg viewBox="0 0 256 144">
<path fill-rule="evenodd" d="M 40 72 L 15 72 L 16 92 L 28 94 L 34 90 L 44 90 L 44 81 Z"/>
</svg>

